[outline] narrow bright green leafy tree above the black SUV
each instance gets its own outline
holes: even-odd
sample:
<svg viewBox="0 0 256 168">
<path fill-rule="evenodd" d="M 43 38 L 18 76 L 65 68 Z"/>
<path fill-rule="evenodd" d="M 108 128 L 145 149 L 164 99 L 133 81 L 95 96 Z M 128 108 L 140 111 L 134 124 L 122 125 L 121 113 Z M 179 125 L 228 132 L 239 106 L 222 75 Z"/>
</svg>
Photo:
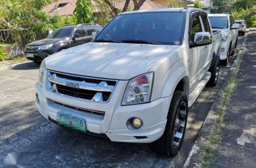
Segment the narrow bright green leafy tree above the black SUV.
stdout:
<svg viewBox="0 0 256 168">
<path fill-rule="evenodd" d="M 92 3 L 90 0 L 76 1 L 74 15 L 76 15 L 77 24 L 92 22 Z"/>
</svg>

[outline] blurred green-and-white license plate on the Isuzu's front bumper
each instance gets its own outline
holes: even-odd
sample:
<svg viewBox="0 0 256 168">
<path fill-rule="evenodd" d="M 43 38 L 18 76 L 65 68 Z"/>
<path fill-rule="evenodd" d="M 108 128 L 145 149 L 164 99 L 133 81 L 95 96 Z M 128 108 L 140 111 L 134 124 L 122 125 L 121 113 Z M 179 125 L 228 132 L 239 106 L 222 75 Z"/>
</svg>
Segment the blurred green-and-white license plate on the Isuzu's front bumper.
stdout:
<svg viewBox="0 0 256 168">
<path fill-rule="evenodd" d="M 80 119 L 66 112 L 57 112 L 57 122 L 64 127 L 72 128 L 73 130 L 86 131 L 85 119 Z"/>
</svg>

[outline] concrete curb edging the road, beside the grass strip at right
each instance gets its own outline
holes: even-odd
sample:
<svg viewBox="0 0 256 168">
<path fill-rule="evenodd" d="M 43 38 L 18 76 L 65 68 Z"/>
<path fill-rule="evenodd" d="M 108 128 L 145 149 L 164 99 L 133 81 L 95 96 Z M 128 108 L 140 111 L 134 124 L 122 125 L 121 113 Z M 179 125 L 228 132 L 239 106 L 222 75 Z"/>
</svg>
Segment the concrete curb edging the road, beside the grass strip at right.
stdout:
<svg viewBox="0 0 256 168">
<path fill-rule="evenodd" d="M 232 64 L 231 68 L 229 69 L 229 72 L 227 73 L 228 79 L 229 79 L 230 75 L 232 74 L 232 72 L 234 72 L 234 70 L 236 68 L 236 64 L 239 62 L 239 59 L 240 59 L 241 55 L 243 54 L 243 49 L 244 49 L 244 44 L 246 43 L 246 39 L 247 38 L 245 37 L 245 39 L 243 40 L 243 44 L 241 45 L 241 49 L 239 50 L 239 53 L 237 54 L 236 59 L 234 60 L 234 63 Z M 226 85 L 227 85 L 227 83 L 223 84 L 223 86 L 226 86 Z M 210 135 L 211 130 L 213 129 L 213 126 L 216 123 L 218 113 L 220 112 L 220 109 L 221 109 L 220 105 L 222 102 L 223 95 L 224 95 L 224 91 L 221 89 L 217 95 L 217 98 L 213 102 L 210 112 L 206 116 L 206 119 L 205 119 L 203 125 L 201 126 L 201 130 L 199 130 L 199 132 L 198 132 L 197 139 L 194 142 L 194 145 L 192 146 L 187 159 L 185 160 L 183 168 L 200 167 L 200 165 L 198 165 L 197 162 L 191 162 L 192 161 L 191 159 L 193 158 L 194 155 L 196 155 L 200 150 L 202 150 L 204 148 L 204 144 L 206 142 L 206 139 L 204 137 L 208 137 L 208 135 Z"/>
</svg>

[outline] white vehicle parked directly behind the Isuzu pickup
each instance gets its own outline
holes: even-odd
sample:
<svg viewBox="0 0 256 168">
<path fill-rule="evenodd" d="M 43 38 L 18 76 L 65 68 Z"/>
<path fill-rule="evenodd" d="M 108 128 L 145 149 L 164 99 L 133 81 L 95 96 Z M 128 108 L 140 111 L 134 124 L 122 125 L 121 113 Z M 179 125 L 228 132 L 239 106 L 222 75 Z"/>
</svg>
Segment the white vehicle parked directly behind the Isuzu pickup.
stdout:
<svg viewBox="0 0 256 168">
<path fill-rule="evenodd" d="M 239 24 L 235 23 L 231 14 L 209 14 L 213 31 L 221 31 L 222 46 L 220 62 L 223 66 L 229 63 L 229 56 L 234 54 L 239 36 Z"/>
</svg>

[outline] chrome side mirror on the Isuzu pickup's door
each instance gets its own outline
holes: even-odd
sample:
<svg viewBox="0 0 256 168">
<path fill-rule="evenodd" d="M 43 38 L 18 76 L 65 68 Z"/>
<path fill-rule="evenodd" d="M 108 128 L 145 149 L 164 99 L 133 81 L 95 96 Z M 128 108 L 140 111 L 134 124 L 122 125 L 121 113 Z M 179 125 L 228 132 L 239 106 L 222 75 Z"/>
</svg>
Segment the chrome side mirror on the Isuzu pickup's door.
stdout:
<svg viewBox="0 0 256 168">
<path fill-rule="evenodd" d="M 194 42 L 190 44 L 190 47 L 199 47 L 201 45 L 210 45 L 213 42 L 211 33 L 198 32 L 194 34 Z"/>
</svg>

